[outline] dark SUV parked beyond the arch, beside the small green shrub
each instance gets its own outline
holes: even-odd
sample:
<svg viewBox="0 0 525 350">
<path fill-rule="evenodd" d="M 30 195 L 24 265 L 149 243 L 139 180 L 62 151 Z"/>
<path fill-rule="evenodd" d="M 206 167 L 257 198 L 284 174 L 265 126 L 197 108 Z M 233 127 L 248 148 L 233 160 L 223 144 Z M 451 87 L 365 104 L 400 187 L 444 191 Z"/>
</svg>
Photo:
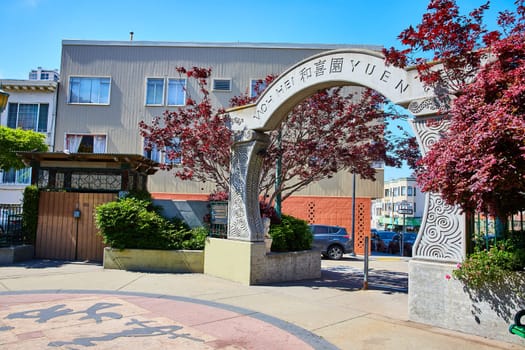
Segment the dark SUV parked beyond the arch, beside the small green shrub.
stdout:
<svg viewBox="0 0 525 350">
<path fill-rule="evenodd" d="M 340 260 L 343 254 L 353 252 L 353 242 L 346 229 L 340 226 L 310 225 L 313 248 L 319 249 L 323 257 Z"/>
</svg>

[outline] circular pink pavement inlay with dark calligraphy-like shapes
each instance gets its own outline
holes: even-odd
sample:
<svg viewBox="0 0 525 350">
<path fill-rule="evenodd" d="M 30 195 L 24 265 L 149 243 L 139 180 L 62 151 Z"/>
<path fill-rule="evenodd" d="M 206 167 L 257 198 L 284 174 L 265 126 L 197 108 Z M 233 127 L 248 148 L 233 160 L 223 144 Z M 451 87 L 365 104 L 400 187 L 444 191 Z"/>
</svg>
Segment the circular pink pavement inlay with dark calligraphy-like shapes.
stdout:
<svg viewBox="0 0 525 350">
<path fill-rule="evenodd" d="M 6 349 L 336 349 L 246 309 L 142 293 L 0 293 Z"/>
</svg>

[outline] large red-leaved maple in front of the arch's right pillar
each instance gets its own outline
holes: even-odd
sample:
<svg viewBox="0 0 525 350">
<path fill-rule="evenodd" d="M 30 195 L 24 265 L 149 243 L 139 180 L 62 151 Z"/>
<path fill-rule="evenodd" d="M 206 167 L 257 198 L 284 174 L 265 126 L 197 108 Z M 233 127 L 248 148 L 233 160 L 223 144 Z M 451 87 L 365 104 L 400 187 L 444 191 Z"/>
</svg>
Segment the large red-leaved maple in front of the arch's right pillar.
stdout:
<svg viewBox="0 0 525 350">
<path fill-rule="evenodd" d="M 384 50 L 390 63 L 415 64 L 423 82 L 453 97 L 442 111 L 448 130 L 418 163 L 422 189 L 501 219 L 525 209 L 524 0 L 515 5 L 489 32 L 488 2 L 462 16 L 454 0 L 433 0 L 421 24 L 400 34 L 408 48 Z"/>
</svg>

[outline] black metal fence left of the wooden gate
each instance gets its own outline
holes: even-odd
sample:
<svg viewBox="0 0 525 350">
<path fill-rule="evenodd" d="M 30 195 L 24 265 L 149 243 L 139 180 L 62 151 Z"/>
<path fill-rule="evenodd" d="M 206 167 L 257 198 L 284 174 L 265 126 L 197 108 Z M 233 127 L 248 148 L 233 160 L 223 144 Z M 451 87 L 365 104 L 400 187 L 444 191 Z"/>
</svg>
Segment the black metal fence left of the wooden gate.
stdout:
<svg viewBox="0 0 525 350">
<path fill-rule="evenodd" d="M 0 247 L 24 243 L 22 205 L 0 204 Z"/>
</svg>

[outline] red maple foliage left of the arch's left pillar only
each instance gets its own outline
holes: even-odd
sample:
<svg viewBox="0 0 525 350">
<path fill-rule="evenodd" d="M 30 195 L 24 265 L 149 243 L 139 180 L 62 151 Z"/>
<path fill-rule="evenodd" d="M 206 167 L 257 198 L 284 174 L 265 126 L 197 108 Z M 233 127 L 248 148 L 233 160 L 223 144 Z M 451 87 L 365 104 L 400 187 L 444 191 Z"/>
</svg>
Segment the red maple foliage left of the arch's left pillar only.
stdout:
<svg viewBox="0 0 525 350">
<path fill-rule="evenodd" d="M 231 130 L 224 109 L 212 106 L 206 88 L 211 69 L 177 68 L 180 74 L 195 79 L 200 87 L 200 101 L 187 98 L 186 107 L 165 111 L 151 124 L 139 123 L 141 135 L 147 140 L 146 149 L 164 150 L 168 161 L 161 169 L 174 170 L 182 180 L 216 184 L 218 191 L 227 191 L 229 182 Z M 174 159 L 183 159 L 178 166 Z"/>
</svg>

